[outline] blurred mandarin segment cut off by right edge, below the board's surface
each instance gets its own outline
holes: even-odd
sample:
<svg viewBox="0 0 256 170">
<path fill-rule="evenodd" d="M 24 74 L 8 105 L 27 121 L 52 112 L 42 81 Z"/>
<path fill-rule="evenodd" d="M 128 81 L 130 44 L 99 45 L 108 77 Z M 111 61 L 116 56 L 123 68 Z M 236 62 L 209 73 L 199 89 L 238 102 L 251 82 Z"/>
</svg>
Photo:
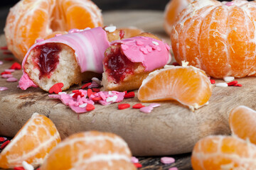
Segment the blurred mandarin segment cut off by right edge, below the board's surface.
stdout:
<svg viewBox="0 0 256 170">
<path fill-rule="evenodd" d="M 230 129 L 234 135 L 256 144 L 256 111 L 247 106 L 234 108 L 229 115 Z"/>
</svg>

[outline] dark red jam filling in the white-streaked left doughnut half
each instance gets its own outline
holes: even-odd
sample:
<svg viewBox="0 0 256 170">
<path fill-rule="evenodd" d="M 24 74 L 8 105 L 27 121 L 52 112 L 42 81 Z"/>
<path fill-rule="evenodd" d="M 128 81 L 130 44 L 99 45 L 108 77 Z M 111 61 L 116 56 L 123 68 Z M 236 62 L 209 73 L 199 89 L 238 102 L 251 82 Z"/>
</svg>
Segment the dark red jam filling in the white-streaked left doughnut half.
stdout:
<svg viewBox="0 0 256 170">
<path fill-rule="evenodd" d="M 39 45 L 36 48 L 36 64 L 40 70 L 39 79 L 42 77 L 50 78 L 50 73 L 57 68 L 59 62 L 60 46 L 55 43 Z"/>
</svg>

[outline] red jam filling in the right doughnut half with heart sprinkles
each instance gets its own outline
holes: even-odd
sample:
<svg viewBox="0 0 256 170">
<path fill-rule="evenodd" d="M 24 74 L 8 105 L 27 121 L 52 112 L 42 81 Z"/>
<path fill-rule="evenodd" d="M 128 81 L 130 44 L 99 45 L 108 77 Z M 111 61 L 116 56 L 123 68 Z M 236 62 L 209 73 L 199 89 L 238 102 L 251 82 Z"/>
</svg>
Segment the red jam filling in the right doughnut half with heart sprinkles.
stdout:
<svg viewBox="0 0 256 170">
<path fill-rule="evenodd" d="M 115 83 L 122 81 L 127 74 L 134 74 L 134 62 L 131 62 L 121 51 L 119 46 L 112 46 L 110 54 L 104 61 L 106 72 Z"/>
</svg>

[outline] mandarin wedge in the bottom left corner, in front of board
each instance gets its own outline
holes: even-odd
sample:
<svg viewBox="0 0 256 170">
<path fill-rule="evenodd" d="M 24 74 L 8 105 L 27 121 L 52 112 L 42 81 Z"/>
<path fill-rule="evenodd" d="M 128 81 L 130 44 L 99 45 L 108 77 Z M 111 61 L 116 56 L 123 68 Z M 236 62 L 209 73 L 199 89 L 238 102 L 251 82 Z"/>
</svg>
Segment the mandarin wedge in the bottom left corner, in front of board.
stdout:
<svg viewBox="0 0 256 170">
<path fill-rule="evenodd" d="M 11 169 L 22 166 L 23 161 L 38 166 L 59 142 L 60 135 L 53 122 L 45 115 L 33 113 L 1 152 L 0 167 Z"/>
</svg>

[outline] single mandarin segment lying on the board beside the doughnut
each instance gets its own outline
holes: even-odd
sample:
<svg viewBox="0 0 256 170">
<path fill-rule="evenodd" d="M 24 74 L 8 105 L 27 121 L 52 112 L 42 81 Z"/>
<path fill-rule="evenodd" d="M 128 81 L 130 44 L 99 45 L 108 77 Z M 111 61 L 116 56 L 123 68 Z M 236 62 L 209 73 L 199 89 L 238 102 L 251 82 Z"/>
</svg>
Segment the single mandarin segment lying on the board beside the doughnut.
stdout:
<svg viewBox="0 0 256 170">
<path fill-rule="evenodd" d="M 196 67 L 167 67 L 151 72 L 138 91 L 139 101 L 175 100 L 194 108 L 204 106 L 212 94 L 210 79 Z"/>
</svg>

